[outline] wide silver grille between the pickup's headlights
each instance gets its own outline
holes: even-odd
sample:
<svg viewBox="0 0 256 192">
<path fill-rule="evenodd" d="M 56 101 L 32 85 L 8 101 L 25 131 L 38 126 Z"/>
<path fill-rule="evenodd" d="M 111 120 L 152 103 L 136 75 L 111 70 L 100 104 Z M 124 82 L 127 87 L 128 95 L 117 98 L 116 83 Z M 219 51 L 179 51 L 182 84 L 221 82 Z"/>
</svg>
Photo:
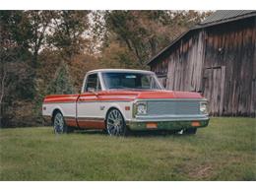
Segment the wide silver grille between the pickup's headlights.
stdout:
<svg viewBox="0 0 256 192">
<path fill-rule="evenodd" d="M 149 100 L 148 115 L 196 115 L 199 107 L 199 100 Z"/>
</svg>

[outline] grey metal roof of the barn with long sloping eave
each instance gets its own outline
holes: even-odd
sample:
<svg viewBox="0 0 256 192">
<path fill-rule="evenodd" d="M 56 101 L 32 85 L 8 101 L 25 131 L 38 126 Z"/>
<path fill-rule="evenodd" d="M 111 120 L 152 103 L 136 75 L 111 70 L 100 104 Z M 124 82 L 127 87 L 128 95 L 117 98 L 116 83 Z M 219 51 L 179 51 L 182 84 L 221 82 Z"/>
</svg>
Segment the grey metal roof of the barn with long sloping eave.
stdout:
<svg viewBox="0 0 256 192">
<path fill-rule="evenodd" d="M 256 16 L 256 10 L 218 10 L 214 12 L 212 15 L 207 17 L 203 22 L 200 24 L 196 25 L 194 28 L 191 28 L 187 32 L 181 33 L 178 37 L 176 37 L 174 40 L 170 42 L 168 46 L 163 48 L 157 55 L 152 57 L 146 64 L 151 65 L 153 62 L 159 58 L 159 56 L 167 51 L 173 44 L 175 44 L 179 39 L 181 39 L 183 36 L 185 36 L 187 33 L 202 29 L 202 28 L 207 28 L 210 26 L 214 25 L 219 25 L 227 22 L 232 22 L 235 20 L 241 20 L 244 18 L 249 18 L 252 16 Z"/>
</svg>

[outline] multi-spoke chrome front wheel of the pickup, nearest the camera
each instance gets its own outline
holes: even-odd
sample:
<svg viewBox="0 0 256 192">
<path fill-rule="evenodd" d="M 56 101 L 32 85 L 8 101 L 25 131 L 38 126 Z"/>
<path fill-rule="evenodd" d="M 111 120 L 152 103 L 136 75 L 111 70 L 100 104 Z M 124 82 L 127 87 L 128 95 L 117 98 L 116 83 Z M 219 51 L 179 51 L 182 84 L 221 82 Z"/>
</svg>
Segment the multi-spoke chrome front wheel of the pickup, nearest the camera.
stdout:
<svg viewBox="0 0 256 192">
<path fill-rule="evenodd" d="M 109 135 L 123 136 L 126 134 L 125 123 L 121 112 L 112 109 L 106 117 L 106 130 Z"/>
</svg>

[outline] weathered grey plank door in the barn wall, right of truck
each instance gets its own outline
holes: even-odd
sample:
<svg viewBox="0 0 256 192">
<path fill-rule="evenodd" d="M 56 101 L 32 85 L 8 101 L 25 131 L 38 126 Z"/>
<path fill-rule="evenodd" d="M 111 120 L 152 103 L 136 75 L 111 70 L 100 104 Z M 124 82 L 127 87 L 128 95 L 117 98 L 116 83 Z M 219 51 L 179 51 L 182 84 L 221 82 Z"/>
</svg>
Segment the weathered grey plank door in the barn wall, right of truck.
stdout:
<svg viewBox="0 0 256 192">
<path fill-rule="evenodd" d="M 225 66 L 207 68 L 203 76 L 203 95 L 209 100 L 210 114 L 222 115 L 224 109 Z"/>
</svg>

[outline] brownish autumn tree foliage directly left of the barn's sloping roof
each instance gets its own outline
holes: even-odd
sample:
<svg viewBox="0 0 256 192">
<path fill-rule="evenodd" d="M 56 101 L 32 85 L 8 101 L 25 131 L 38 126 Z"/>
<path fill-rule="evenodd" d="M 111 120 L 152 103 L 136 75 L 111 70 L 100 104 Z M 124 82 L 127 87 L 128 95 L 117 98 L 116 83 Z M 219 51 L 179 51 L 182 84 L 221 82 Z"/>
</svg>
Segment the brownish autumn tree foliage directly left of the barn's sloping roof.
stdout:
<svg viewBox="0 0 256 192">
<path fill-rule="evenodd" d="M 195 11 L 107 11 L 107 35 L 116 34 L 144 64 L 181 32 L 186 31 L 205 17 Z"/>
</svg>

